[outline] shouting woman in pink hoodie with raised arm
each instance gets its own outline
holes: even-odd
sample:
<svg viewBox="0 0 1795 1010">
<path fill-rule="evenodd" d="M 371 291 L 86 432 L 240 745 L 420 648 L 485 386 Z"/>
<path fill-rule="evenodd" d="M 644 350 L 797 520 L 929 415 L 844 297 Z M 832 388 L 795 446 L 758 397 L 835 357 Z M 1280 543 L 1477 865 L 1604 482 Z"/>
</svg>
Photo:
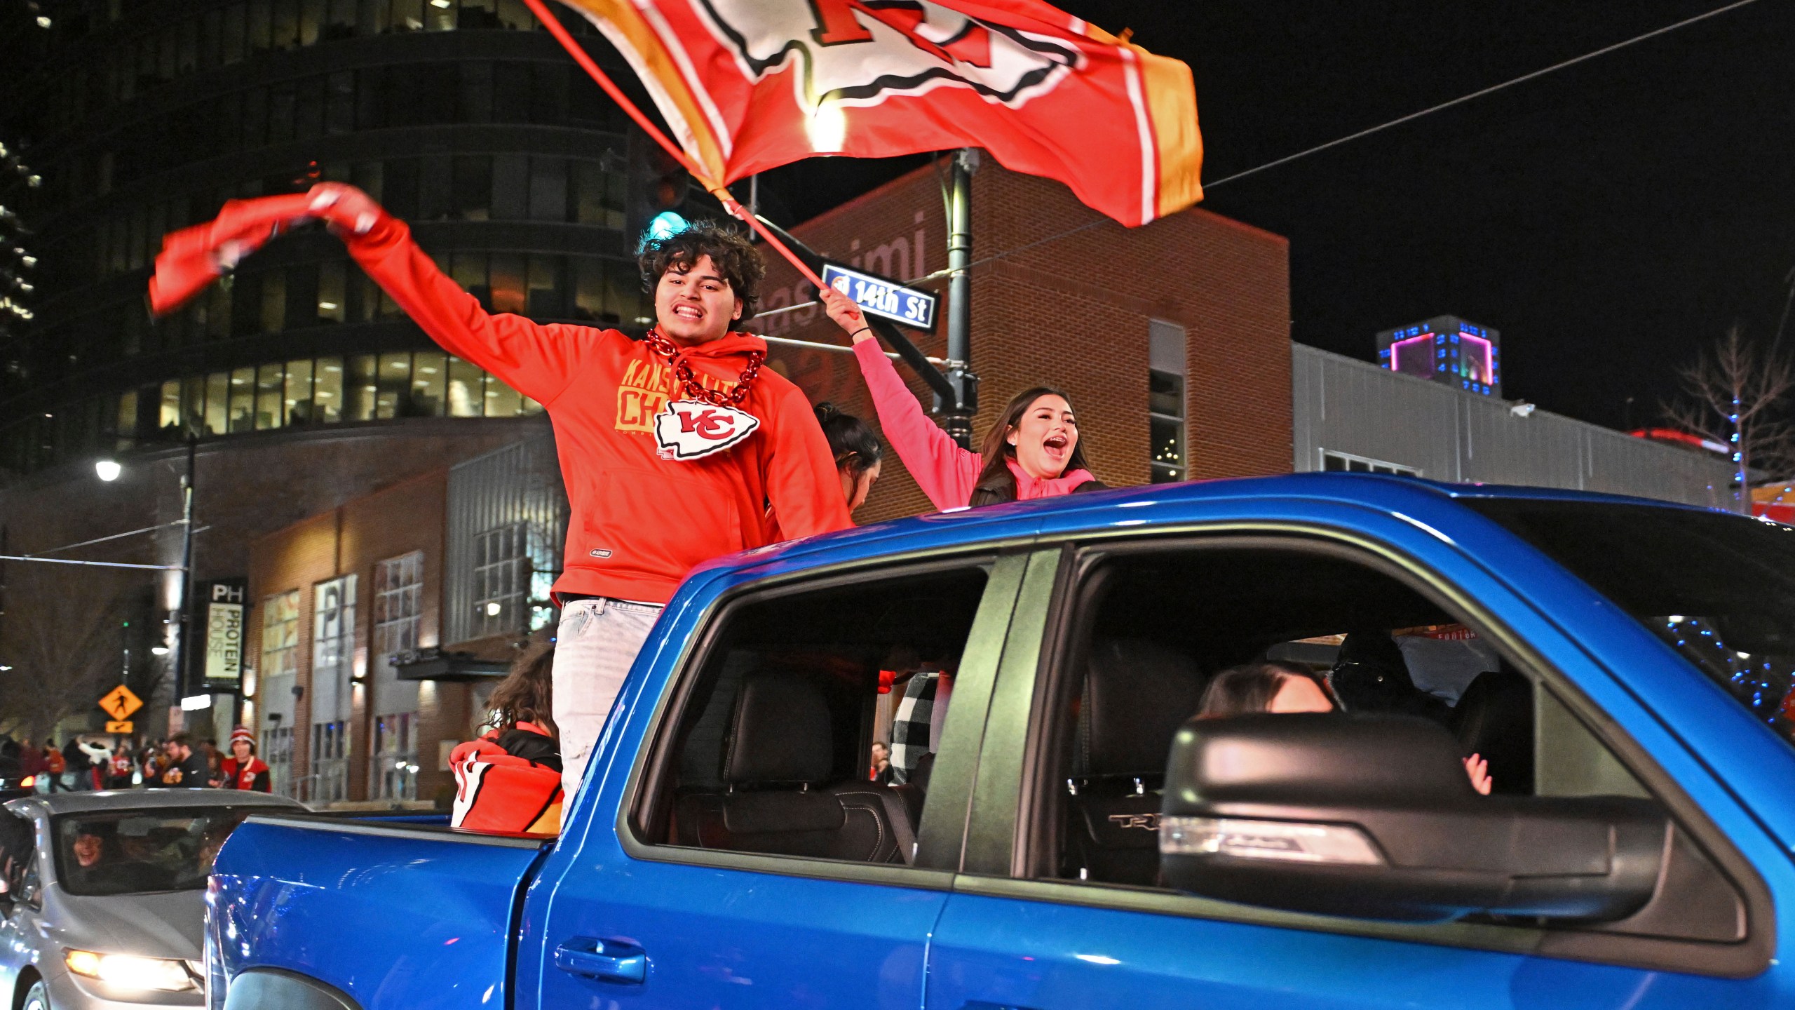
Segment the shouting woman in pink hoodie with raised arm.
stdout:
<svg viewBox="0 0 1795 1010">
<path fill-rule="evenodd" d="M 1052 386 L 1016 394 L 978 451 L 969 453 L 923 413 L 923 404 L 910 395 L 880 349 L 860 306 L 835 289 L 822 291 L 822 304 L 853 338 L 885 439 L 935 509 L 1029 501 L 1104 487 L 1086 469 L 1079 422 L 1066 394 Z"/>
</svg>

